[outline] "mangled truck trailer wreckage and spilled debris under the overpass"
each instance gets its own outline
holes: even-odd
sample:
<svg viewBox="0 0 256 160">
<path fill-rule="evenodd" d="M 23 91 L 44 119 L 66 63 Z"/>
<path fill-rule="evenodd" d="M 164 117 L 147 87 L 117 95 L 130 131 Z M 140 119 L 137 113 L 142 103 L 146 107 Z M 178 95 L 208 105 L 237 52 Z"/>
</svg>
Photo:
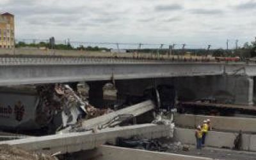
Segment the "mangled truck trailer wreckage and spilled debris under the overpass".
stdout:
<svg viewBox="0 0 256 160">
<path fill-rule="evenodd" d="M 111 109 L 94 108 L 86 100 L 83 90 L 76 93 L 67 84 L 44 84 L 36 86 L 36 90 L 40 96 L 36 123 L 40 125 L 49 124 L 58 113 L 62 120 L 60 128 L 65 128 L 77 125 L 81 118 L 90 119 L 111 112 Z"/>
</svg>

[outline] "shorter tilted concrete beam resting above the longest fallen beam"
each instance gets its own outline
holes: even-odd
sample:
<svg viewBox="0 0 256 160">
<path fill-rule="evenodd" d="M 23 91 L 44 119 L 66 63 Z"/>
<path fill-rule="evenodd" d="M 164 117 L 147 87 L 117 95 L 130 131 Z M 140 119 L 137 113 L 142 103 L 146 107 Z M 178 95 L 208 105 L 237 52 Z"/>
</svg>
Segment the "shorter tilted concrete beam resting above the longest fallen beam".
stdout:
<svg viewBox="0 0 256 160">
<path fill-rule="evenodd" d="M 142 115 L 148 111 L 151 111 L 155 108 L 152 100 L 147 100 L 145 102 L 141 102 L 140 104 L 135 104 L 134 106 L 130 106 L 124 109 L 120 109 L 118 111 L 109 113 L 108 115 L 98 116 L 96 118 L 92 118 L 90 120 L 84 120 L 83 128 L 84 129 L 93 129 L 99 125 L 104 125 L 110 120 L 113 120 L 118 115 L 129 114 L 133 116 Z"/>
</svg>

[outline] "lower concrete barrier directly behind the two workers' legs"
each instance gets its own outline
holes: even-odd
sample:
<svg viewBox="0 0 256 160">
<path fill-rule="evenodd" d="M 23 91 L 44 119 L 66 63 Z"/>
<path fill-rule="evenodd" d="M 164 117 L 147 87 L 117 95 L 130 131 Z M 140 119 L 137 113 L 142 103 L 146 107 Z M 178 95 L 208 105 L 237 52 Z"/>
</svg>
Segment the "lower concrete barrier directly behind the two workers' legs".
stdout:
<svg viewBox="0 0 256 160">
<path fill-rule="evenodd" d="M 237 133 L 234 132 L 209 132 L 205 140 L 207 147 L 233 148 Z M 188 145 L 195 145 L 195 129 L 174 129 L 174 140 Z M 243 134 L 242 149 L 256 151 L 256 135 Z"/>
</svg>

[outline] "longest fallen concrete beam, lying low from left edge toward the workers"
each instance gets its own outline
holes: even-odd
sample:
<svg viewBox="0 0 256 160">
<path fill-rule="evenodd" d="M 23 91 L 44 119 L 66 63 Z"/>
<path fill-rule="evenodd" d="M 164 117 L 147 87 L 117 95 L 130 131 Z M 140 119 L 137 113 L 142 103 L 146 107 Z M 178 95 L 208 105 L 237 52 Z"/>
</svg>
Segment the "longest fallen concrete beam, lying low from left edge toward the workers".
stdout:
<svg viewBox="0 0 256 160">
<path fill-rule="evenodd" d="M 22 140 L 1 141 L 0 144 L 14 145 L 26 150 L 41 151 L 48 154 L 61 152 L 78 152 L 90 150 L 106 143 L 114 141 L 117 137 L 129 138 L 140 136 L 142 138 L 161 138 L 170 135 L 171 128 L 166 125 L 142 124 L 127 127 L 115 127 L 102 129 L 99 132 L 72 132 L 69 134 L 55 134 L 37 138 Z"/>
</svg>

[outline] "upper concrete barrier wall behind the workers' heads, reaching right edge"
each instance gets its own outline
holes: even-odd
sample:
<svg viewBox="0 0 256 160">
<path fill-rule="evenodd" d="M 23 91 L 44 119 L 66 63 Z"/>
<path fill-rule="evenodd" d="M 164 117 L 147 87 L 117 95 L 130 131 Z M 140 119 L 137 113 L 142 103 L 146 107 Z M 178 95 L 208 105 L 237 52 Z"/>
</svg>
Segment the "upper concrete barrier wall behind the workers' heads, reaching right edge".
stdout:
<svg viewBox="0 0 256 160">
<path fill-rule="evenodd" d="M 181 115 L 176 114 L 174 122 L 180 127 L 195 128 L 204 120 L 210 119 L 213 129 L 225 131 L 256 132 L 256 118 L 235 118 L 227 116 L 202 116 L 202 115 Z"/>
</svg>

